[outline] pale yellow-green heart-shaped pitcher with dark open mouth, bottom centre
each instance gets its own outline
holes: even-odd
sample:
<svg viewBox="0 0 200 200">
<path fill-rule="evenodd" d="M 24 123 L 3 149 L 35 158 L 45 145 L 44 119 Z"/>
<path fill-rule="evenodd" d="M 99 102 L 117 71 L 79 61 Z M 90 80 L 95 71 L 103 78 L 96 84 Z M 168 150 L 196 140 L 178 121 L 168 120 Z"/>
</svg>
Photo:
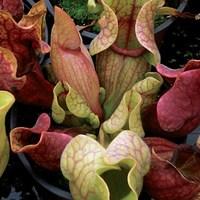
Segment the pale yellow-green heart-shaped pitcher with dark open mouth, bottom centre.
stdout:
<svg viewBox="0 0 200 200">
<path fill-rule="evenodd" d="M 107 149 L 79 135 L 61 157 L 61 171 L 69 179 L 74 200 L 137 200 L 149 167 L 149 149 L 131 131 L 121 132 Z"/>
</svg>

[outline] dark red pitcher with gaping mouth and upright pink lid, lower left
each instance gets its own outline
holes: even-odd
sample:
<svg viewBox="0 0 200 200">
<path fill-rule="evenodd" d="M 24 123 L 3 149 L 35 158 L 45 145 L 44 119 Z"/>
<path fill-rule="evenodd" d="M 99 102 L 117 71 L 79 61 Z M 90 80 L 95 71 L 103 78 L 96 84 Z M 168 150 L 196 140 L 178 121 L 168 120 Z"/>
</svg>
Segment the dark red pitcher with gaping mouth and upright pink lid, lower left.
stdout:
<svg viewBox="0 0 200 200">
<path fill-rule="evenodd" d="M 49 131 L 50 118 L 43 113 L 32 128 L 17 127 L 10 133 L 11 149 L 28 154 L 38 165 L 49 170 L 60 169 L 60 157 L 72 131 Z"/>
</svg>

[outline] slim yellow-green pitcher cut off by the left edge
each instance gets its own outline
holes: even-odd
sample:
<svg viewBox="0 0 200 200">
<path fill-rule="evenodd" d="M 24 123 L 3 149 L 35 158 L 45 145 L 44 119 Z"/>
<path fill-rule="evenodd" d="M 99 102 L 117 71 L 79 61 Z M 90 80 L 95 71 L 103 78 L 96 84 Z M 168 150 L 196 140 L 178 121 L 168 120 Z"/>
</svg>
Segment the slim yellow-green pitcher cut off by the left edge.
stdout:
<svg viewBox="0 0 200 200">
<path fill-rule="evenodd" d="M 15 98 L 11 93 L 0 90 L 0 177 L 9 160 L 9 143 L 6 137 L 5 117 L 14 101 Z"/>
</svg>

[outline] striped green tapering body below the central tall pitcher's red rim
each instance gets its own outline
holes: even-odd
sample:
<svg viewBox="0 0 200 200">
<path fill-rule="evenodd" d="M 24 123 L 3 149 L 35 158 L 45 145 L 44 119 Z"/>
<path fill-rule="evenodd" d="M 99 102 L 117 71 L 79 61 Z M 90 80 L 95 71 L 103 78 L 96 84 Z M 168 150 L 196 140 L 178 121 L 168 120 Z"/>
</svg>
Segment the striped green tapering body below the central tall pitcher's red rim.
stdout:
<svg viewBox="0 0 200 200">
<path fill-rule="evenodd" d="M 105 118 L 108 119 L 124 93 L 144 78 L 150 66 L 143 56 L 132 58 L 120 55 L 112 49 L 98 54 L 96 63 L 100 85 L 106 90 L 103 107 Z"/>
</svg>

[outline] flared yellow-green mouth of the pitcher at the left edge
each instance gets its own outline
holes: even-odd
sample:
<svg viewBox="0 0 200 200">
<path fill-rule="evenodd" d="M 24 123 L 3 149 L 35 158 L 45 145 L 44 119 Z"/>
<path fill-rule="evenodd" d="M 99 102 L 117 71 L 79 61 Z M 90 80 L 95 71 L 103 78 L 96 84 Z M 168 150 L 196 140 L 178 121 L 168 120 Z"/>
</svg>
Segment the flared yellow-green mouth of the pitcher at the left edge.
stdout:
<svg viewBox="0 0 200 200">
<path fill-rule="evenodd" d="M 14 103 L 15 97 L 8 91 L 0 90 L 0 111 L 7 108 Z"/>
</svg>

